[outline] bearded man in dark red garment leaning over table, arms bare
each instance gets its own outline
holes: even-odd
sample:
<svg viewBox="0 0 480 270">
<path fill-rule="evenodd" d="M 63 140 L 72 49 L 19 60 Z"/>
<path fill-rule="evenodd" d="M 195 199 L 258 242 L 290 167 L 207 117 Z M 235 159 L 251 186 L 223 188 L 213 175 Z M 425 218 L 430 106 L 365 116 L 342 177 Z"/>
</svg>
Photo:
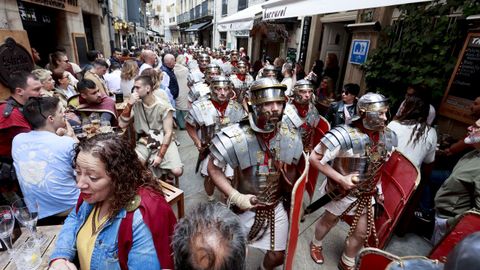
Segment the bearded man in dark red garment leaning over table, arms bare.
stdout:
<svg viewBox="0 0 480 270">
<path fill-rule="evenodd" d="M 92 113 L 97 113 L 100 121 L 108 121 L 112 127 L 118 125 L 115 101 L 101 94 L 93 81 L 79 81 L 77 90 L 80 94 L 70 98 L 68 105 L 75 108 L 80 121 L 88 119 Z"/>
</svg>

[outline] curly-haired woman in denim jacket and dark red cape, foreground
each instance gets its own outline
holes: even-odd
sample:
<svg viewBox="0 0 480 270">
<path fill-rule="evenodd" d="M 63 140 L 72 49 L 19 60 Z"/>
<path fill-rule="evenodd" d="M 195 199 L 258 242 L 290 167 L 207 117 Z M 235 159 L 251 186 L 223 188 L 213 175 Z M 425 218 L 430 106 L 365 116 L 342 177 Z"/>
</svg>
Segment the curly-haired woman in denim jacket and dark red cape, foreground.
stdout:
<svg viewBox="0 0 480 270">
<path fill-rule="evenodd" d="M 134 149 L 100 134 L 75 149 L 80 198 L 65 220 L 50 269 L 173 269 L 176 218 Z"/>
</svg>

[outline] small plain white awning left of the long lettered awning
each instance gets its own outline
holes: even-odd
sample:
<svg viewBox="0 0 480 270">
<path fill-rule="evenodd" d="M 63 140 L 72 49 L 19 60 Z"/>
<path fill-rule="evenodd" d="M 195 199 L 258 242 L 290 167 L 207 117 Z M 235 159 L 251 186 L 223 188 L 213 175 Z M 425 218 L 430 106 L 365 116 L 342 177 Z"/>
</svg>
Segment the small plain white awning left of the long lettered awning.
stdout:
<svg viewBox="0 0 480 270">
<path fill-rule="evenodd" d="M 220 32 L 252 30 L 255 15 L 261 12 L 262 4 L 250 6 L 221 19 L 217 24 L 217 30 Z"/>
</svg>

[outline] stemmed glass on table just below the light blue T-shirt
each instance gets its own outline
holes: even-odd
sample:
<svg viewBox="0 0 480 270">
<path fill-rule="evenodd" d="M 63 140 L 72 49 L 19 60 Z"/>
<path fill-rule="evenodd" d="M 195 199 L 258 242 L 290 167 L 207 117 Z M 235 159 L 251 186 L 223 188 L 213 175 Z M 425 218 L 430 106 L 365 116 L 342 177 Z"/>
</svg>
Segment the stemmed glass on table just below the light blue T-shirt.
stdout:
<svg viewBox="0 0 480 270">
<path fill-rule="evenodd" d="M 37 201 L 18 199 L 12 204 L 13 214 L 18 222 L 27 227 L 30 234 L 39 243 L 44 243 L 46 238 L 44 235 L 37 234 L 38 221 L 38 203 Z"/>
</svg>

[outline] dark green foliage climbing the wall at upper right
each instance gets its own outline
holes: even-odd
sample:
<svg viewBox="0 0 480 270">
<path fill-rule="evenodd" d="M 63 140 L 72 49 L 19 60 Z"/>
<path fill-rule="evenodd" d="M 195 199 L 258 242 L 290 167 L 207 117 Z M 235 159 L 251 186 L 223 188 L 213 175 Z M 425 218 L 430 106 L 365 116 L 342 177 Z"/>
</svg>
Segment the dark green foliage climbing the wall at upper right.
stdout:
<svg viewBox="0 0 480 270">
<path fill-rule="evenodd" d="M 369 91 L 381 92 L 396 102 L 403 99 L 409 84 L 424 84 L 438 101 L 466 37 L 465 27 L 448 15 L 457 10 L 464 17 L 479 14 L 480 3 L 447 0 L 403 5 L 400 10 L 399 20 L 382 30 L 381 45 L 362 66 Z"/>
</svg>

